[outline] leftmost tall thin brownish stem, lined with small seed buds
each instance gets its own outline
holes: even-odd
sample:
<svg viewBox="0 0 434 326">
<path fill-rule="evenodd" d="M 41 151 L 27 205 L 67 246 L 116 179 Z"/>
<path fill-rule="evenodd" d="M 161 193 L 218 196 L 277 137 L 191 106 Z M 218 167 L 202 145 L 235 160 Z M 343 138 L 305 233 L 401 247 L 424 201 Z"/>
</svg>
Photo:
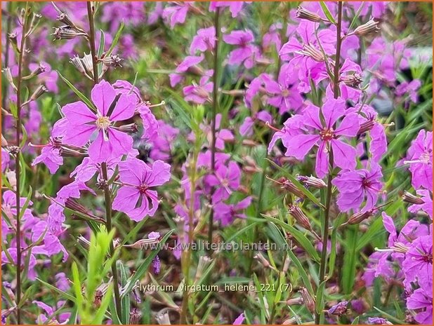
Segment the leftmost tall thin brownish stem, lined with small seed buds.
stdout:
<svg viewBox="0 0 434 326">
<path fill-rule="evenodd" d="M 15 241 L 17 243 L 17 287 L 16 287 L 16 294 L 15 294 L 15 302 L 17 304 L 17 324 L 21 324 L 21 258 L 22 258 L 22 248 L 21 248 L 21 221 L 20 221 L 20 197 L 21 197 L 21 189 L 20 189 L 20 156 L 21 156 L 21 149 L 20 149 L 20 138 L 21 138 L 21 105 L 22 105 L 22 99 L 21 99 L 21 91 L 22 91 L 22 66 L 24 61 L 24 53 L 25 53 L 25 41 L 27 37 L 25 36 L 27 34 L 27 22 L 29 17 L 29 4 L 26 2 L 25 5 L 25 17 L 24 22 L 22 25 L 22 37 L 21 37 L 21 44 L 20 44 L 20 55 L 18 57 L 18 80 L 17 80 L 17 119 L 16 119 L 16 145 L 17 145 L 17 154 L 15 155 L 15 179 L 17 182 L 16 185 L 16 205 L 17 205 L 17 232 L 15 235 Z"/>
</svg>

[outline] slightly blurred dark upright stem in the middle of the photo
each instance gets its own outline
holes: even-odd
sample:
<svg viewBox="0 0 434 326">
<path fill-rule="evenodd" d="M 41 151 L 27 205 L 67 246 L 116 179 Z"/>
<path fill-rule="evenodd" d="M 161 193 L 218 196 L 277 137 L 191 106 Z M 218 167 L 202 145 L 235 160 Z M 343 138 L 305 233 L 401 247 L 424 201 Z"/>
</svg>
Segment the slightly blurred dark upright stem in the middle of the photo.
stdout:
<svg viewBox="0 0 434 326">
<path fill-rule="evenodd" d="M 216 14 L 214 15 L 214 30 L 216 33 L 216 46 L 214 47 L 214 63 L 213 63 L 213 111 L 211 120 L 211 174 L 214 174 L 216 170 L 216 115 L 218 111 L 218 48 L 220 45 L 220 8 L 216 8 Z M 209 212 L 209 222 L 208 222 L 208 243 L 209 252 L 211 255 L 211 243 L 213 241 L 213 219 L 214 219 L 214 208 L 213 208 L 213 193 L 214 187 L 211 189 L 210 204 L 211 212 Z"/>
</svg>

